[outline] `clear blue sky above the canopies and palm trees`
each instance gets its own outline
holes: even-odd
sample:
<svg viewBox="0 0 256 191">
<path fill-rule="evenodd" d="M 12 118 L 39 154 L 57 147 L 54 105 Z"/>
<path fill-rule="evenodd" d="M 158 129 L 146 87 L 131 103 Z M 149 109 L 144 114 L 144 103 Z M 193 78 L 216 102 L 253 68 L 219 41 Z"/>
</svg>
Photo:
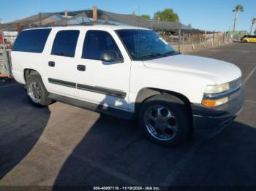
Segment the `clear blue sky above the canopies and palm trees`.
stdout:
<svg viewBox="0 0 256 191">
<path fill-rule="evenodd" d="M 0 18 L 7 23 L 38 12 L 91 9 L 94 5 L 108 12 L 132 14 L 135 11 L 137 15 L 153 17 L 154 12 L 172 8 L 185 25 L 191 24 L 201 30 L 228 31 L 233 29 L 232 10 L 237 4 L 244 6 L 244 12 L 238 16 L 236 29 L 249 31 L 251 20 L 256 17 L 256 0 L 0 0 Z"/>
</svg>

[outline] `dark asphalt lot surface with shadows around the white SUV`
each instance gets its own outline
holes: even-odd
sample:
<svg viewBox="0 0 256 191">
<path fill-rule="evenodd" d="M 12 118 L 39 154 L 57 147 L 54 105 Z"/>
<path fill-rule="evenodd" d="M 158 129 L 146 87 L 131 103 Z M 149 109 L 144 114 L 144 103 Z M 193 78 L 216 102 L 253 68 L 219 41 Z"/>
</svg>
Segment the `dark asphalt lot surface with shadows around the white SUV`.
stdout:
<svg viewBox="0 0 256 191">
<path fill-rule="evenodd" d="M 135 122 L 59 102 L 34 108 L 22 85 L 0 82 L 0 185 L 256 186 L 256 44 L 193 55 L 239 66 L 246 102 L 218 136 L 176 148 L 151 144 Z"/>
</svg>

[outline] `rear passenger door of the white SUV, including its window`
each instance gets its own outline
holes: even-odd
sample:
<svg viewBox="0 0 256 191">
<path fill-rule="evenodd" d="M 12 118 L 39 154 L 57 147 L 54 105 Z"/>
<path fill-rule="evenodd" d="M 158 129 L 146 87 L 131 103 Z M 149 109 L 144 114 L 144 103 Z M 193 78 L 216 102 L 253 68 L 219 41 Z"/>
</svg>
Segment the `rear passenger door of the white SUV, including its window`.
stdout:
<svg viewBox="0 0 256 191">
<path fill-rule="evenodd" d="M 55 31 L 48 60 L 45 62 L 45 85 L 51 93 L 75 97 L 79 30 Z"/>
</svg>

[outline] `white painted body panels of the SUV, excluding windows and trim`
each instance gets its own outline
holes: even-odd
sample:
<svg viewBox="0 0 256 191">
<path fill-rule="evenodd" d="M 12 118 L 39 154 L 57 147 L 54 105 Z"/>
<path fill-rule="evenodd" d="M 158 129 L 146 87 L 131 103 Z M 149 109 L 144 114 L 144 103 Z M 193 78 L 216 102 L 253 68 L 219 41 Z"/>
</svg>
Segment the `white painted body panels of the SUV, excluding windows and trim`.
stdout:
<svg viewBox="0 0 256 191">
<path fill-rule="evenodd" d="M 56 33 L 67 29 L 80 31 L 75 58 L 50 55 Z M 139 91 L 144 87 L 174 91 L 183 94 L 192 103 L 201 103 L 206 85 L 222 84 L 241 77 L 241 70 L 231 63 L 197 56 L 174 55 L 145 62 L 131 61 L 127 50 L 115 33 L 115 30 L 118 29 L 138 28 L 129 26 L 54 27 L 42 53 L 12 52 L 13 76 L 18 82 L 24 84 L 24 69 L 34 69 L 42 76 L 49 92 L 131 112 L 135 109 L 135 101 Z M 113 36 L 124 57 L 124 63 L 104 64 L 102 61 L 82 59 L 83 40 L 88 30 L 107 31 Z M 54 68 L 49 67 L 49 61 L 55 61 L 56 66 Z M 86 71 L 78 71 L 77 66 L 79 64 L 85 65 Z M 127 96 L 122 99 L 53 85 L 48 82 L 49 77 L 83 85 L 120 90 L 127 93 Z"/>
</svg>

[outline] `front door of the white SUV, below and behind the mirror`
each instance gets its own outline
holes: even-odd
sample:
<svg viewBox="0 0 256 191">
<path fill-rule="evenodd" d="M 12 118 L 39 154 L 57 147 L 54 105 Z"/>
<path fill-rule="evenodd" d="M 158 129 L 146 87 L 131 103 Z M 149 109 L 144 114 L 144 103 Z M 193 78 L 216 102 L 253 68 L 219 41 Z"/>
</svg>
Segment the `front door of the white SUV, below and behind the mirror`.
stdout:
<svg viewBox="0 0 256 191">
<path fill-rule="evenodd" d="M 114 31 L 86 31 L 81 41 L 77 71 L 78 97 L 85 101 L 129 110 L 129 77 L 131 60 Z M 102 52 L 115 51 L 121 62 L 101 61 Z"/>
</svg>

